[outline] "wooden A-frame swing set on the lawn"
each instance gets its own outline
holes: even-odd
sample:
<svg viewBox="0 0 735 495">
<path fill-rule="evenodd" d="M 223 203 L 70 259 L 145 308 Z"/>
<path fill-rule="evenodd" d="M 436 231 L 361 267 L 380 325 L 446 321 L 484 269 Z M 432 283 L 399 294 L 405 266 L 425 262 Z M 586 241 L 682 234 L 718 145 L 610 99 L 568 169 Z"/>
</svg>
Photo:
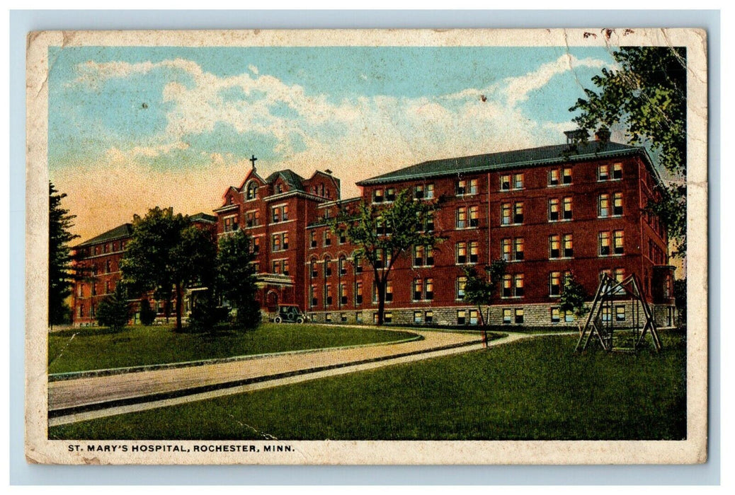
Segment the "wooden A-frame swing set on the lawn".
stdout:
<svg viewBox="0 0 735 495">
<path fill-rule="evenodd" d="M 653 311 L 646 302 L 637 276 L 629 275 L 623 281 L 614 281 L 609 275 L 603 275 L 598 286 L 592 308 L 587 315 L 587 322 L 579 333 L 576 352 L 587 350 L 594 336 L 607 352 L 637 353 L 645 336 L 650 334 L 653 349 L 659 353 L 662 349 Z M 622 311 L 618 313 L 618 309 Z M 631 318 L 626 313 L 631 309 Z M 617 321 L 616 321 L 617 320 Z"/>
</svg>

